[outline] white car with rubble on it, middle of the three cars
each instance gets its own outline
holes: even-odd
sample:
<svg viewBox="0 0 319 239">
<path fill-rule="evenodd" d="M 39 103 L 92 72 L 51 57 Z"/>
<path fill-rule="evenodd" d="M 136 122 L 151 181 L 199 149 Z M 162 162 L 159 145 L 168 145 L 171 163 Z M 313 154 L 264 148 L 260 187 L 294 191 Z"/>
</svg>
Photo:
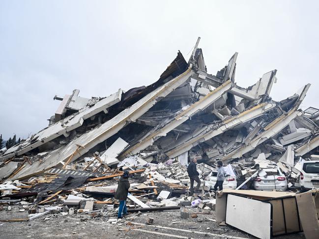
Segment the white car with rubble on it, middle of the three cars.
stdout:
<svg viewBox="0 0 319 239">
<path fill-rule="evenodd" d="M 254 179 L 254 189 L 263 191 L 272 191 L 273 189 L 286 191 L 288 183 L 286 176 L 281 172 L 279 167 L 265 168 L 264 176 L 258 176 Z"/>
</svg>

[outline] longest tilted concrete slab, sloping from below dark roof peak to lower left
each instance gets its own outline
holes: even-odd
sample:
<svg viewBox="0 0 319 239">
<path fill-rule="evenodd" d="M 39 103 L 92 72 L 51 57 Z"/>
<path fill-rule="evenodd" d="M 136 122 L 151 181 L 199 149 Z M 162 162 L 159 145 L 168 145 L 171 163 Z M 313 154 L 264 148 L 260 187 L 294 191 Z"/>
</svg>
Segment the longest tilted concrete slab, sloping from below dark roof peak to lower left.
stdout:
<svg viewBox="0 0 319 239">
<path fill-rule="evenodd" d="M 134 122 L 135 120 L 140 118 L 159 100 L 167 96 L 174 89 L 188 80 L 193 75 L 193 73 L 194 72 L 192 69 L 187 69 L 184 73 L 168 81 L 164 85 L 159 86 L 132 106 L 121 111 L 109 121 L 101 124 L 99 127 L 87 133 L 82 134 L 80 137 L 72 140 L 69 144 L 53 150 L 47 157 L 43 159 L 44 162 L 33 162 L 32 165 L 26 166 L 24 170 L 20 171 L 17 175 L 14 176 L 14 180 L 25 179 L 30 176 L 36 175 L 39 172 L 43 172 L 44 170 L 47 170 L 49 168 L 56 167 L 60 161 L 66 161 L 67 159 L 69 159 L 73 152 L 76 151 L 76 145 L 81 145 L 84 148 L 80 148 L 77 151 L 77 154 L 74 155 L 72 161 L 78 159 L 80 156 L 83 156 L 97 144 L 105 141 L 129 123 Z"/>
</svg>

